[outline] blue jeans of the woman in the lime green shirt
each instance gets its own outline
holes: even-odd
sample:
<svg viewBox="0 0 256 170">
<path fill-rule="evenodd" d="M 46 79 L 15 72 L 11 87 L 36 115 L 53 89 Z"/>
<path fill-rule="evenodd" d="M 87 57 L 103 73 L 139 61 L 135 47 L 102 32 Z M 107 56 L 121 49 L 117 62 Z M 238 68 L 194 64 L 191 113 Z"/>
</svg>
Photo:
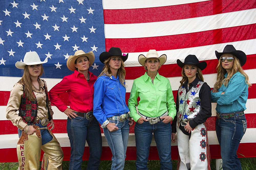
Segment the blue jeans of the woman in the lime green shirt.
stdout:
<svg viewBox="0 0 256 170">
<path fill-rule="evenodd" d="M 136 170 L 147 170 L 147 161 L 150 144 L 154 133 L 156 147 L 160 159 L 160 169 L 172 170 L 171 158 L 171 136 L 172 127 L 170 123 L 160 121 L 154 125 L 149 122 L 136 123 L 134 127 L 135 142 L 137 149 Z"/>
</svg>

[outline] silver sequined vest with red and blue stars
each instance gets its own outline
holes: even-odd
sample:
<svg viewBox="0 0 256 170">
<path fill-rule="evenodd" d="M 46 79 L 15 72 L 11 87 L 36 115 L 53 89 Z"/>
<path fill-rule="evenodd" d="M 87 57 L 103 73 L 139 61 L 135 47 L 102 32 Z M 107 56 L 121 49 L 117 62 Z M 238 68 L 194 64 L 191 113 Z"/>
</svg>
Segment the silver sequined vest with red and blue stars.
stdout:
<svg viewBox="0 0 256 170">
<path fill-rule="evenodd" d="M 184 86 L 180 87 L 178 90 L 179 98 L 179 110 L 177 113 L 177 120 L 188 122 L 194 119 L 199 111 L 201 110 L 201 100 L 199 99 L 199 91 L 204 82 L 198 81 L 197 86 L 192 88 L 186 93 Z"/>
</svg>

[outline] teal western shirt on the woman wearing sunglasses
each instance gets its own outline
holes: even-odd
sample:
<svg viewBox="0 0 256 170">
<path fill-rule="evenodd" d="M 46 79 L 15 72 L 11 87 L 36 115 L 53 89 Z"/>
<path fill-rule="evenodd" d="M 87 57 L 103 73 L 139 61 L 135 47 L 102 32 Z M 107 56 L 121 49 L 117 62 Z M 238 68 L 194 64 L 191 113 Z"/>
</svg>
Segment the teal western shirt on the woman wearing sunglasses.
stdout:
<svg viewBox="0 0 256 170">
<path fill-rule="evenodd" d="M 225 74 L 225 78 L 228 73 Z M 225 94 L 221 94 L 225 92 Z M 246 110 L 248 98 L 248 84 L 245 77 L 236 72 L 228 82 L 227 87 L 222 84 L 217 93 L 211 93 L 211 101 L 217 102 L 216 111 L 219 113 L 232 113 Z"/>
</svg>

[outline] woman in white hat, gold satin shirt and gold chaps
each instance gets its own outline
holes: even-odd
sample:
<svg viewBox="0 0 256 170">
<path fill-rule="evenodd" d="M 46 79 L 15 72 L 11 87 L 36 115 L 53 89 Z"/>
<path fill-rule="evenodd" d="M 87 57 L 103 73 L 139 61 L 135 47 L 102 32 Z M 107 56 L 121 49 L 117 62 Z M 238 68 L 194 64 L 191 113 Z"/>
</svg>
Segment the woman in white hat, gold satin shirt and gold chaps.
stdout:
<svg viewBox="0 0 256 170">
<path fill-rule="evenodd" d="M 26 53 L 23 61 L 15 64 L 18 69 L 24 69 L 24 74 L 10 91 L 6 108 L 6 118 L 18 127 L 20 137 L 17 143 L 18 169 L 39 169 L 42 149 L 45 154 L 41 169 L 60 170 L 63 151 L 51 132 L 54 129 L 53 111 L 46 82 L 39 78 L 44 72 L 42 64 L 47 62 L 47 58 L 42 62 L 38 54 L 32 51 Z"/>
</svg>

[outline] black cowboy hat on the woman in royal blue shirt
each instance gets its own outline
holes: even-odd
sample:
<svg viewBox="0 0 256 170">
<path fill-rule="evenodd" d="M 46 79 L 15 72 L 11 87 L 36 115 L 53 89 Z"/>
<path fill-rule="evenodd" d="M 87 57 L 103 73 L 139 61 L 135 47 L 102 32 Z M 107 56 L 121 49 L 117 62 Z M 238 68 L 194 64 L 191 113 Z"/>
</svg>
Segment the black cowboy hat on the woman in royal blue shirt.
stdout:
<svg viewBox="0 0 256 170">
<path fill-rule="evenodd" d="M 100 54 L 100 57 L 99 57 L 100 62 L 104 64 L 104 61 L 106 59 L 108 59 L 109 57 L 112 57 L 112 56 L 120 56 L 120 57 L 122 57 L 123 62 L 125 62 L 127 60 L 127 58 L 128 58 L 128 53 L 123 56 L 122 55 L 122 51 L 120 50 L 120 48 L 118 48 L 118 47 L 111 47 L 109 49 L 109 52 L 105 51 L 105 52 L 102 52 Z"/>
</svg>

